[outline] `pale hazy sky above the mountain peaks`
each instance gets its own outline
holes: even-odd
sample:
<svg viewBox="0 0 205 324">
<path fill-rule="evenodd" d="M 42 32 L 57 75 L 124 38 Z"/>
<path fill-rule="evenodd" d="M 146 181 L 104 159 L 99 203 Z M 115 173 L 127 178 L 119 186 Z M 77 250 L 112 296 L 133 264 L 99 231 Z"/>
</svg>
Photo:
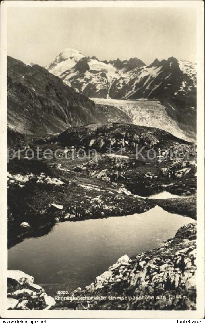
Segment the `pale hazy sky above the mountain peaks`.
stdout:
<svg viewBox="0 0 205 324">
<path fill-rule="evenodd" d="M 8 55 L 45 66 L 64 48 L 100 60 L 196 62 L 195 9 L 8 8 Z"/>
</svg>

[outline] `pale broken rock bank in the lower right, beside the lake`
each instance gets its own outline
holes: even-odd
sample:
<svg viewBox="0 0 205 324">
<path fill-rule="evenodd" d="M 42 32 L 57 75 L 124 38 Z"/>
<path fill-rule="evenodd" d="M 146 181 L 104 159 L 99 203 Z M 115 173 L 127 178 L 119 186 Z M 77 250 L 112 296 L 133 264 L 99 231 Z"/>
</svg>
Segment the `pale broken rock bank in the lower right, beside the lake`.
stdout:
<svg viewBox="0 0 205 324">
<path fill-rule="evenodd" d="M 89 302 L 57 301 L 53 308 L 195 310 L 195 272 L 196 224 L 188 224 L 160 248 L 132 259 L 123 256 L 95 283 L 71 293 L 76 299 L 86 296 Z"/>
</svg>

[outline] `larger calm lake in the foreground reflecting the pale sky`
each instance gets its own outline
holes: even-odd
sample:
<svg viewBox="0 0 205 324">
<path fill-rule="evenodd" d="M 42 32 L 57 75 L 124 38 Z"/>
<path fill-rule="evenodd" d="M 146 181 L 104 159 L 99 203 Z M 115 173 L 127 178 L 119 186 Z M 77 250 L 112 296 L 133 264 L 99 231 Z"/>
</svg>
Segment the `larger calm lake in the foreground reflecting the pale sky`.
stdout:
<svg viewBox="0 0 205 324">
<path fill-rule="evenodd" d="M 62 284 L 69 290 L 84 287 L 122 255 L 157 248 L 193 222 L 156 206 L 143 214 L 58 223 L 47 235 L 10 248 L 8 269 L 22 270 L 56 290 Z"/>
</svg>

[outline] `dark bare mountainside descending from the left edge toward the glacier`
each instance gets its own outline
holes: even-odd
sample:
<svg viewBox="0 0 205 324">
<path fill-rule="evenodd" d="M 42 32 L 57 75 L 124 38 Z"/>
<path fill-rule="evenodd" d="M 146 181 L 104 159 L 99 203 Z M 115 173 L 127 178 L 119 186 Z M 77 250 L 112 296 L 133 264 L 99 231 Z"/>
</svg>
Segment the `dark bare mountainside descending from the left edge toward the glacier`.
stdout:
<svg viewBox="0 0 205 324">
<path fill-rule="evenodd" d="M 7 59 L 8 144 L 23 135 L 39 136 L 62 132 L 68 126 L 130 121 L 118 108 L 95 106 L 60 78 L 39 65 Z M 11 141 L 11 143 L 10 143 Z"/>
</svg>

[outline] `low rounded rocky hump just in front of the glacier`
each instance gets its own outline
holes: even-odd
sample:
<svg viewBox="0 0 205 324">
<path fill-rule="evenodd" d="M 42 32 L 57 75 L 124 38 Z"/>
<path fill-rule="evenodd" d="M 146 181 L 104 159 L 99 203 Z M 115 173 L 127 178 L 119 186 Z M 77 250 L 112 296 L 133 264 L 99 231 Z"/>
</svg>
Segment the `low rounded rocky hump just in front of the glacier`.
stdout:
<svg viewBox="0 0 205 324">
<path fill-rule="evenodd" d="M 192 144 L 154 127 L 117 122 L 69 127 L 65 132 L 54 136 L 53 140 L 64 145 L 84 145 L 99 152 L 106 152 L 109 145 L 114 147 L 114 151 L 117 151 L 118 146 L 122 146 L 124 150 L 132 148 L 135 151 L 138 145 L 151 149 L 176 144 Z"/>
</svg>

